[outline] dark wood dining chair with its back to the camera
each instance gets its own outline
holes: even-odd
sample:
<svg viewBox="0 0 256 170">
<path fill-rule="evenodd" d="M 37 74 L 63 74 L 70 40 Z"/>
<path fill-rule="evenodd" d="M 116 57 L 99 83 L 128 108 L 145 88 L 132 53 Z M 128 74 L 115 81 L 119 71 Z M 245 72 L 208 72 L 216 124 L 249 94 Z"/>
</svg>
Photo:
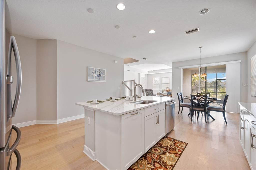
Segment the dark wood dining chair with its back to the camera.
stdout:
<svg viewBox="0 0 256 170">
<path fill-rule="evenodd" d="M 190 94 L 191 98 L 191 120 L 193 118 L 193 114 L 195 111 L 197 112 L 204 112 L 205 114 L 205 123 L 207 123 L 207 95 L 194 95 Z M 197 114 L 198 120 L 199 114 Z"/>
</svg>

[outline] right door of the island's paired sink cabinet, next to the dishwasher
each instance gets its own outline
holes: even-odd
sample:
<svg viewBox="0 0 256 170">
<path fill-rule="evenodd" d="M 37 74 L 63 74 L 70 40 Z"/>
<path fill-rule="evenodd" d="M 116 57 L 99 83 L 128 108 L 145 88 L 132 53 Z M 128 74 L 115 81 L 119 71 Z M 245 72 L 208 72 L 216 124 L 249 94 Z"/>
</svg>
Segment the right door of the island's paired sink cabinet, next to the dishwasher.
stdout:
<svg viewBox="0 0 256 170">
<path fill-rule="evenodd" d="M 156 141 L 165 136 L 165 109 L 155 113 L 157 115 Z"/>
</svg>

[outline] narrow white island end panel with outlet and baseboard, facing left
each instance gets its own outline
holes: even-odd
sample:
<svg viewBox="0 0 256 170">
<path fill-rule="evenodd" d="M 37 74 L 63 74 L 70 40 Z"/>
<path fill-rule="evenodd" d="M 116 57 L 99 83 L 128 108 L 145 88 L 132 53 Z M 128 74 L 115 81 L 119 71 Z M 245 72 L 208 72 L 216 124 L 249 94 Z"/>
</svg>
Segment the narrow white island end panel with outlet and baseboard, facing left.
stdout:
<svg viewBox="0 0 256 170">
<path fill-rule="evenodd" d="M 95 161 L 95 111 L 88 108 L 84 109 L 84 153 Z"/>
</svg>

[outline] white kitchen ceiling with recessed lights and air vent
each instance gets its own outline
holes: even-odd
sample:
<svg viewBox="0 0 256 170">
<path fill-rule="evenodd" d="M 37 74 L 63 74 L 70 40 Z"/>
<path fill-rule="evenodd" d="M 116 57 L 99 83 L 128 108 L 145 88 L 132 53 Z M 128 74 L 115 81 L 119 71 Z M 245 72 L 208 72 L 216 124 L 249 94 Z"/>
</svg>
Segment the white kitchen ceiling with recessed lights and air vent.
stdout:
<svg viewBox="0 0 256 170">
<path fill-rule="evenodd" d="M 122 1 L 122 11 L 116 9 L 119 2 L 7 1 L 6 26 L 34 39 L 58 39 L 122 58 L 148 58 L 135 64 L 199 58 L 199 46 L 202 57 L 243 52 L 256 40 L 255 1 Z M 206 7 L 209 13 L 199 15 Z M 198 27 L 199 32 L 184 34 Z M 156 33 L 149 34 L 151 29 Z"/>
</svg>

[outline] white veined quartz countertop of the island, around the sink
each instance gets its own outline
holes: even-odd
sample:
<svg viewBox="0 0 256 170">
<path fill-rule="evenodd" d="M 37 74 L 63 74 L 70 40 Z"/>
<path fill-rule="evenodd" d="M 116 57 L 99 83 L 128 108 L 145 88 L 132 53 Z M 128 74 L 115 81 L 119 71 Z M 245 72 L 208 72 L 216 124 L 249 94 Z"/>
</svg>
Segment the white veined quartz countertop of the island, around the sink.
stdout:
<svg viewBox="0 0 256 170">
<path fill-rule="evenodd" d="M 176 98 L 158 97 L 158 96 L 142 96 L 142 98 L 137 98 L 137 101 L 138 100 L 157 100 L 157 102 L 149 103 L 149 104 L 135 104 L 135 103 L 130 103 L 133 101 L 126 101 L 121 99 L 115 102 L 105 101 L 104 103 L 99 103 L 99 104 L 90 104 L 86 102 L 78 102 L 75 104 L 79 106 L 83 106 L 85 109 L 88 108 L 92 110 L 98 110 L 101 112 L 119 116 L 119 115 L 130 113 L 136 110 L 140 110 L 146 107 L 154 106 L 160 103 L 165 103 L 174 99 Z"/>
</svg>

